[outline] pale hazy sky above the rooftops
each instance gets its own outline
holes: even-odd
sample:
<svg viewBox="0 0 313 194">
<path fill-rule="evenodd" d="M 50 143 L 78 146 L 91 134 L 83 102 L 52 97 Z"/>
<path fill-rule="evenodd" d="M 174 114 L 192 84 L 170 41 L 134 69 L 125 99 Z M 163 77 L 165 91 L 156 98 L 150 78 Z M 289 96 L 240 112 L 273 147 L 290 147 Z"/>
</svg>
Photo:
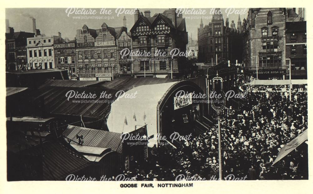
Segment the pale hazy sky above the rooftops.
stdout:
<svg viewBox="0 0 313 194">
<path fill-rule="evenodd" d="M 9 20 L 9 26 L 14 28 L 15 32 L 25 31 L 33 32 L 32 17 L 36 19 L 36 28 L 42 34 L 58 35 L 62 33 L 62 37 L 74 39 L 76 30 L 81 29 L 84 24 L 89 28 L 99 29 L 103 22 L 109 27 L 123 26 L 123 17 L 126 16 L 127 30 L 129 31 L 134 25 L 134 8 L 85 8 L 85 14 L 79 14 L 82 8 L 7 8 L 5 15 Z M 91 10 L 90 10 L 91 9 Z M 179 8 L 178 8 L 179 9 Z M 165 9 L 140 8 L 140 12 L 145 10 L 151 11 L 151 17 L 155 13 L 162 13 Z M 180 9 L 182 17 L 186 19 L 186 28 L 188 35 L 192 39 L 197 39 L 197 28 L 200 25 L 200 17 L 203 17 L 203 25 L 211 22 L 210 16 L 214 8 L 195 8 L 195 9 Z M 248 8 L 221 8 L 224 22 L 225 18 L 229 18 L 229 27 L 231 21 L 234 20 L 237 28 L 238 16 L 240 15 L 241 22 L 247 18 Z M 75 14 L 76 12 L 76 14 Z M 98 17 L 82 18 L 82 17 Z M 80 17 L 80 18 L 77 18 Z M 100 18 L 102 17 L 102 18 Z"/>
</svg>

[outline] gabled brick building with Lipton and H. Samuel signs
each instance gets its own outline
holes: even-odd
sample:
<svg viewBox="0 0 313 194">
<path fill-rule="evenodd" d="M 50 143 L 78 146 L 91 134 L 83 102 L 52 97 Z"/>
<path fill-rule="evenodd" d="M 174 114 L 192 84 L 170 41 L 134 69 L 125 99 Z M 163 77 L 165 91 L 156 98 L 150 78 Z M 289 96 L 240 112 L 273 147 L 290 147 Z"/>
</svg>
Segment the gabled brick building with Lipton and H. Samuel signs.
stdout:
<svg viewBox="0 0 313 194">
<path fill-rule="evenodd" d="M 76 61 L 79 80 L 110 81 L 119 72 L 117 39 L 126 27 L 90 29 L 86 25 L 77 30 Z"/>
</svg>

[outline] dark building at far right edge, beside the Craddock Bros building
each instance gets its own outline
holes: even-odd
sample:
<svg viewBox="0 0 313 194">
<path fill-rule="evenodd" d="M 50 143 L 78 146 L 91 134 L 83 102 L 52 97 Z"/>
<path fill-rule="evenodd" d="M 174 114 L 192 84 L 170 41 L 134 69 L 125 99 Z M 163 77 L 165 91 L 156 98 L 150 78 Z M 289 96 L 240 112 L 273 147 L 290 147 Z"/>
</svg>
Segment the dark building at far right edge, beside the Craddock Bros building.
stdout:
<svg viewBox="0 0 313 194">
<path fill-rule="evenodd" d="M 306 56 L 306 21 L 286 22 L 286 65 L 290 59 L 291 79 L 307 79 Z"/>
</svg>

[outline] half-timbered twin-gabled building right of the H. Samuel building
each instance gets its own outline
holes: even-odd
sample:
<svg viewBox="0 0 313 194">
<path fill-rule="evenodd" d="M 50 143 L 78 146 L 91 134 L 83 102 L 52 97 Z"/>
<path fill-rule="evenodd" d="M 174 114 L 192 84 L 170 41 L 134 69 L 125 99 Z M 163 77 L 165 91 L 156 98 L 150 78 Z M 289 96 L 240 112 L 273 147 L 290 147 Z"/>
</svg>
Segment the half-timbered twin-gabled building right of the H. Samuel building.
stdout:
<svg viewBox="0 0 313 194">
<path fill-rule="evenodd" d="M 135 24 L 131 28 L 133 52 L 141 53 L 133 57 L 135 77 L 180 77 L 186 56 L 174 56 L 173 50 L 186 53 L 188 35 L 185 19 L 177 16 L 176 9 L 167 9 L 151 17 L 149 10 L 135 12 Z M 173 54 L 172 52 L 172 54 Z M 150 53 L 147 56 L 145 53 Z"/>
</svg>

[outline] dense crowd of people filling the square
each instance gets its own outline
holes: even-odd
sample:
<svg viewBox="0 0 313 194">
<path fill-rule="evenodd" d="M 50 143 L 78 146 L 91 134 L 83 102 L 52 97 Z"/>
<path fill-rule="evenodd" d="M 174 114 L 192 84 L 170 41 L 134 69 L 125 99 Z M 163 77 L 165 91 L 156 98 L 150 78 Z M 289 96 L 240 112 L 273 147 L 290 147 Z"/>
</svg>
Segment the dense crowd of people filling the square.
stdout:
<svg viewBox="0 0 313 194">
<path fill-rule="evenodd" d="M 247 97 L 221 120 L 223 179 L 308 179 L 306 142 L 272 166 L 279 151 L 307 129 L 307 86 L 293 90 L 292 102 L 280 87 L 260 92 L 259 87 L 240 85 Z M 158 146 L 153 153 L 125 175 L 134 180 L 217 180 L 218 125 L 177 149 Z"/>
</svg>

